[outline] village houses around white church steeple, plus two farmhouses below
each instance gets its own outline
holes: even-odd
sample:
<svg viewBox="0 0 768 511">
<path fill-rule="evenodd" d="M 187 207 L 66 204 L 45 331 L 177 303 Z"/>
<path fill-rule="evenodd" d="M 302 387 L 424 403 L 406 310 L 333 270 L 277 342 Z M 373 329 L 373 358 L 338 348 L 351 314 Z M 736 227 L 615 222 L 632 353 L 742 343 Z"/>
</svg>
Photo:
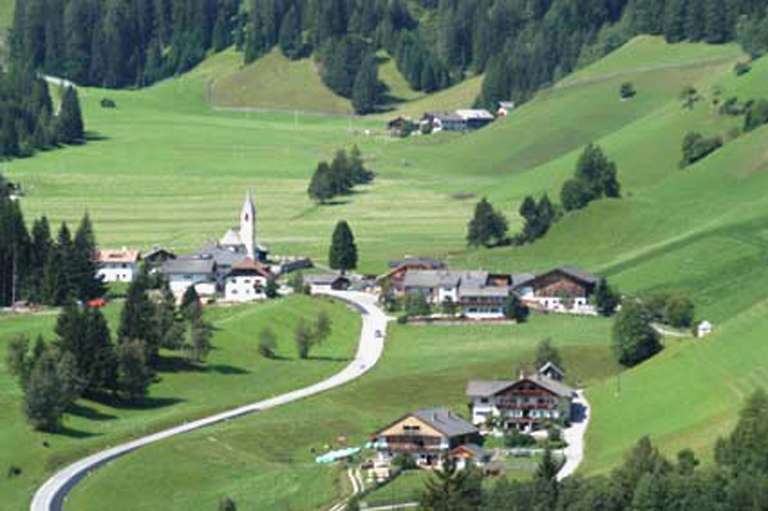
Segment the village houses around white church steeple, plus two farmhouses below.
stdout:
<svg viewBox="0 0 768 511">
<path fill-rule="evenodd" d="M 577 268 L 507 274 L 450 269 L 435 258 L 406 256 L 390 261 L 380 275 L 324 271 L 306 257 L 272 257 L 258 241 L 256 218 L 248 192 L 239 225 L 219 240 L 187 255 L 162 247 L 143 254 L 128 248 L 102 249 L 95 256 L 97 275 L 105 282 L 130 283 L 139 272 L 149 271 L 164 276 L 177 300 L 194 288 L 205 304 L 267 300 L 272 297 L 270 286 L 278 294 L 296 292 L 287 281 L 299 275 L 302 291 L 308 294 L 363 292 L 391 314 L 405 311 L 409 321 L 448 325 L 524 321 L 510 312 L 510 303 L 525 309 L 526 317 L 528 310 L 598 314 L 594 295 L 600 279 Z M 418 307 L 411 313 L 409 304 L 414 302 Z M 439 405 L 414 410 L 372 432 L 365 447 L 330 451 L 316 461 L 350 460 L 362 451 L 361 466 L 374 486 L 386 484 L 403 468 L 439 469 L 446 460 L 458 469 L 473 466 L 500 475 L 509 459 L 540 455 L 545 446 L 556 447 L 558 463 L 563 463 L 568 440 L 578 437 L 569 433 L 572 423 L 581 424 L 583 431 L 586 420 L 586 406 L 566 380 L 565 371 L 550 360 L 514 379 L 472 379 L 466 382 L 466 418 Z M 576 440 L 581 442 L 580 437 Z"/>
</svg>

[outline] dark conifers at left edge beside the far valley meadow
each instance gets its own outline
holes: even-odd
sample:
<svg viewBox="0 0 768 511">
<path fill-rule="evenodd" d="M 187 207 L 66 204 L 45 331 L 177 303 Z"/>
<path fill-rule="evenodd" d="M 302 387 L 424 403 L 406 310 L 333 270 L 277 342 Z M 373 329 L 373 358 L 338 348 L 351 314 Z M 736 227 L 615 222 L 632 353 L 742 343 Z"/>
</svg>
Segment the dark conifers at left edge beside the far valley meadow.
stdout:
<svg viewBox="0 0 768 511">
<path fill-rule="evenodd" d="M 0 68 L 0 160 L 32 156 L 61 144 L 85 140 L 77 90 L 61 90 L 54 110 L 48 83 L 28 70 Z"/>
</svg>

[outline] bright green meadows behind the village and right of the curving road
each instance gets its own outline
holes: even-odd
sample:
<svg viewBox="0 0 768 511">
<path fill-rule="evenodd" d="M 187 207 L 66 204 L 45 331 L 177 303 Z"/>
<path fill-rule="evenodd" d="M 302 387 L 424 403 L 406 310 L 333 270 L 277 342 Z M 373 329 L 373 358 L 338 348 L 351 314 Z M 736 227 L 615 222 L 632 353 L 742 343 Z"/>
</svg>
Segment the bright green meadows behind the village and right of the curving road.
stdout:
<svg viewBox="0 0 768 511">
<path fill-rule="evenodd" d="M 547 336 L 570 346 L 569 369 L 589 384 L 594 422 L 585 474 L 615 466 L 642 434 L 666 453 L 691 446 L 711 458 L 713 440 L 732 426 L 743 396 L 768 381 L 761 343 L 768 327 L 768 129 L 729 139 L 702 162 L 678 168 L 687 131 L 729 135 L 742 122 L 716 113 L 715 87 L 722 98 L 766 95 L 768 60 L 737 78 L 732 68 L 743 55 L 736 46 L 638 38 L 489 128 L 394 140 L 383 134 L 384 117 L 212 112 L 206 84 L 230 69 L 234 57 L 218 55 L 182 78 L 141 91 L 84 90 L 88 127 L 99 140 L 4 165 L 3 172 L 28 191 L 27 218 L 46 213 L 54 221 L 75 221 L 87 208 L 102 246 L 164 244 L 187 251 L 229 227 L 252 188 L 260 240 L 278 253 L 322 263 L 333 225 L 345 218 L 364 272 L 381 272 L 388 259 L 404 254 L 504 271 L 573 264 L 608 276 L 626 293 L 686 292 L 716 333 L 701 342 L 670 341 L 660 356 L 619 380 L 610 364 L 607 322 L 537 317 L 509 332 L 398 326 L 382 365 L 359 382 L 131 455 L 88 478 L 71 509 L 98 509 L 105 501 L 115 511 L 139 509 L 131 506 L 138 493 L 146 494 L 144 509 L 208 509 L 222 494 L 246 508 L 316 508 L 334 500 L 341 483 L 336 470 L 314 466 L 311 447 L 332 444 L 340 434 L 360 441 L 414 406 L 461 410 L 467 377 L 510 376 L 533 343 Z M 383 76 L 392 72 L 386 66 Z M 626 81 L 638 95 L 620 101 Z M 474 99 L 479 84 L 480 78 L 470 79 L 387 116 L 455 108 Z M 703 98 L 692 111 L 678 99 L 689 84 Z M 99 108 L 104 96 L 118 108 Z M 623 199 L 565 216 L 531 246 L 465 247 L 477 198 L 487 195 L 517 230 L 515 212 L 524 196 L 548 192 L 557 200 L 590 141 L 617 162 Z M 377 172 L 376 181 L 342 204 L 313 205 L 306 186 L 317 161 L 353 143 Z M 504 345 L 509 339 L 514 342 Z M 20 424 L 13 429 L 26 432 Z M 172 478 L 178 492 L 169 496 L 167 486 L 153 485 L 158 477 Z M 34 484 L 26 484 L 14 490 L 14 502 L 28 497 Z M 186 484 L 199 487 L 194 502 Z"/>
</svg>

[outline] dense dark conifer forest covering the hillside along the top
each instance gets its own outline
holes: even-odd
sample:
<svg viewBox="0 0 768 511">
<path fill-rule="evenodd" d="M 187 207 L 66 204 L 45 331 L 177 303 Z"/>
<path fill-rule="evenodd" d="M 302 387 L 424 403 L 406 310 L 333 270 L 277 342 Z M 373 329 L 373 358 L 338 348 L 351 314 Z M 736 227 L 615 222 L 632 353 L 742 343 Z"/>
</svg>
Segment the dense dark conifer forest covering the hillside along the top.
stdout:
<svg viewBox="0 0 768 511">
<path fill-rule="evenodd" d="M 15 62 L 50 75 L 132 87 L 231 45 L 246 63 L 277 47 L 291 59 L 313 56 L 325 83 L 349 98 L 356 86 L 368 89 L 358 97 L 374 92 L 362 78 L 367 57 L 384 49 L 416 90 L 485 73 L 478 103 L 491 106 L 524 101 L 637 34 L 738 39 L 761 54 L 766 8 L 764 0 L 25 0 L 11 48 Z"/>
</svg>

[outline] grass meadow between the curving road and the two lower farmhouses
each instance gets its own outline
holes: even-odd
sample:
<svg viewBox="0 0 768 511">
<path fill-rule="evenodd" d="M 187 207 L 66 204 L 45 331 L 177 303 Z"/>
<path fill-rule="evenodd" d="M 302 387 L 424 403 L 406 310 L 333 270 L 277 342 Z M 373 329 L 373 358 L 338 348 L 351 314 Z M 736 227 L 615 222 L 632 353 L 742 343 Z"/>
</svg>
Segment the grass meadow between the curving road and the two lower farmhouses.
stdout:
<svg viewBox="0 0 768 511">
<path fill-rule="evenodd" d="M 521 326 L 393 326 L 384 358 L 370 375 L 131 454 L 89 477 L 67 509 L 197 511 L 215 507 L 223 495 L 245 509 L 317 509 L 336 498 L 338 469 L 315 465 L 312 449 L 324 452 L 340 435 L 362 443 L 415 407 L 448 405 L 463 413 L 468 378 L 509 376 L 546 336 L 562 346 L 575 379 L 607 378 L 616 371 L 608 328 L 602 319 L 552 316 Z M 158 479 L 167 484 L 153 484 Z M 137 492 L 139 503 L 131 497 Z"/>
</svg>

